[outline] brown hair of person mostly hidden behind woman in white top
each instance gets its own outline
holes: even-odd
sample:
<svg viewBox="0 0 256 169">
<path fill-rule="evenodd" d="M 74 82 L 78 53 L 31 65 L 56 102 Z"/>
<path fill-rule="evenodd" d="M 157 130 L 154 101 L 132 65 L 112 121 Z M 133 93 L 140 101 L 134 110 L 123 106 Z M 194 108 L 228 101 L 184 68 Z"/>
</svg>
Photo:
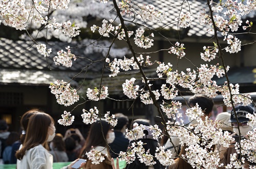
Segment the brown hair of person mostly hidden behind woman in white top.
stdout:
<svg viewBox="0 0 256 169">
<path fill-rule="evenodd" d="M 22 144 L 24 144 L 24 140 L 25 140 L 25 137 L 26 137 L 26 130 L 28 128 L 28 123 L 29 123 L 29 118 L 37 113 L 37 112 L 41 112 L 39 109 L 31 109 L 31 110 L 28 110 L 27 112 L 25 112 L 25 114 L 22 116 L 22 118 L 20 119 L 20 126 L 22 127 L 22 130 L 23 131 L 23 134 L 20 135 L 20 142 Z"/>
</svg>

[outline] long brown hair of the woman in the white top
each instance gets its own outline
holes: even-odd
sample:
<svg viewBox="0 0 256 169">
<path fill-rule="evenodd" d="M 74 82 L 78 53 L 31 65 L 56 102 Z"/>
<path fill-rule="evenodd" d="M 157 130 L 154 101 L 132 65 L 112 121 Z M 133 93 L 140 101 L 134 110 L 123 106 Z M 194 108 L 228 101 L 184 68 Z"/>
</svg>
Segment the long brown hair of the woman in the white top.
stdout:
<svg viewBox="0 0 256 169">
<path fill-rule="evenodd" d="M 29 118 L 24 145 L 15 154 L 17 159 L 21 160 L 27 150 L 40 144 L 49 150 L 47 138 L 48 127 L 51 123 L 54 123 L 52 117 L 45 112 L 37 112 Z"/>
</svg>

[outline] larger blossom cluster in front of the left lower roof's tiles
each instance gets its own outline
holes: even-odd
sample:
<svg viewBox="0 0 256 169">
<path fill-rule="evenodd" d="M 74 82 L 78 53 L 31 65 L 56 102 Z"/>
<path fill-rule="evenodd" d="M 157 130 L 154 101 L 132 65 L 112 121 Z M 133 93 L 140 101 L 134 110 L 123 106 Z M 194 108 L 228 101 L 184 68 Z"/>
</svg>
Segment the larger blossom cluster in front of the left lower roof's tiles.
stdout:
<svg viewBox="0 0 256 169">
<path fill-rule="evenodd" d="M 72 59 L 76 60 L 75 54 L 71 53 L 70 46 L 66 47 L 66 49 L 68 49 L 68 52 L 61 49 L 57 52 L 58 55 L 53 58 L 56 65 L 62 64 L 63 66 L 71 67 Z"/>
</svg>

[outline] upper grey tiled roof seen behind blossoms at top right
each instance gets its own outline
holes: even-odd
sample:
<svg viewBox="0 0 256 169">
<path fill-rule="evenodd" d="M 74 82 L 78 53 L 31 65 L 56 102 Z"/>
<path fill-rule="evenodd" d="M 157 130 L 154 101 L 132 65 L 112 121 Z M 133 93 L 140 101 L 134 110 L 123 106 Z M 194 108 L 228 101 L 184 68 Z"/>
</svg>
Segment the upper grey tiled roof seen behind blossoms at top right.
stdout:
<svg viewBox="0 0 256 169">
<path fill-rule="evenodd" d="M 166 26 L 165 29 L 174 29 L 177 30 L 177 23 L 175 22 L 175 18 L 179 16 L 180 12 L 183 13 L 190 12 L 194 17 L 194 20 L 191 22 L 190 29 L 188 31 L 188 36 L 207 36 L 211 37 L 212 35 L 207 34 L 204 31 L 204 25 L 200 25 L 197 19 L 197 15 L 199 11 L 206 10 L 208 11 L 208 6 L 206 5 L 207 1 L 202 0 L 175 0 L 175 1 L 166 1 L 166 0 L 135 0 L 135 3 L 138 6 L 143 5 L 154 5 L 156 10 L 167 12 L 167 18 L 163 22 L 155 23 L 155 22 L 147 22 L 147 25 L 153 27 L 154 29 L 159 29 L 160 27 Z M 188 4 L 189 3 L 189 4 Z M 136 20 L 141 24 L 145 24 L 142 20 Z M 175 22 L 175 23 L 173 23 Z M 172 23 L 172 24 L 170 24 Z"/>
</svg>

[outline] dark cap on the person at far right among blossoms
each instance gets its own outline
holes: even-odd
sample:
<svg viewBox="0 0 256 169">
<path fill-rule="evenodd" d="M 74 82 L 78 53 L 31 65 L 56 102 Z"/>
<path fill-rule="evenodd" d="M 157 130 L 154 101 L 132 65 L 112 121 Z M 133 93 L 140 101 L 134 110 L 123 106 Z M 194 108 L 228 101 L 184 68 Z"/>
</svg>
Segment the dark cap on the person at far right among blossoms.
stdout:
<svg viewBox="0 0 256 169">
<path fill-rule="evenodd" d="M 236 112 L 237 112 L 237 117 L 238 117 L 238 121 L 239 123 L 244 123 L 244 122 L 248 122 L 249 119 L 246 118 L 247 114 L 252 114 L 253 115 L 253 109 L 251 106 L 249 105 L 242 105 L 239 104 L 237 106 L 235 106 L 234 108 L 236 108 Z M 234 115 L 234 111 L 231 111 L 231 116 L 230 116 L 230 120 L 229 122 L 237 122 L 236 116 Z"/>
</svg>

